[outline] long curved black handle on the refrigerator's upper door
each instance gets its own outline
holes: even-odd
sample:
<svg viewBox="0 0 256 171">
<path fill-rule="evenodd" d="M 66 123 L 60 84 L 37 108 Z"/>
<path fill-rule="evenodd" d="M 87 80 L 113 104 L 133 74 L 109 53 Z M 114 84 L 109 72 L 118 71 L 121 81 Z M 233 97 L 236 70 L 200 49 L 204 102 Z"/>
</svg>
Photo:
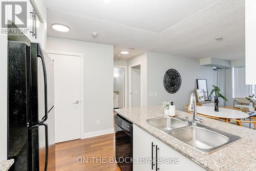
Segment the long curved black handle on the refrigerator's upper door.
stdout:
<svg viewBox="0 0 256 171">
<path fill-rule="evenodd" d="M 45 116 L 38 121 L 38 123 L 45 122 L 48 118 L 48 106 L 47 106 L 47 74 L 46 74 L 46 64 L 44 55 L 41 50 L 40 44 L 37 44 L 37 57 L 41 58 L 42 60 L 42 70 L 44 72 L 44 82 L 45 82 Z"/>
</svg>

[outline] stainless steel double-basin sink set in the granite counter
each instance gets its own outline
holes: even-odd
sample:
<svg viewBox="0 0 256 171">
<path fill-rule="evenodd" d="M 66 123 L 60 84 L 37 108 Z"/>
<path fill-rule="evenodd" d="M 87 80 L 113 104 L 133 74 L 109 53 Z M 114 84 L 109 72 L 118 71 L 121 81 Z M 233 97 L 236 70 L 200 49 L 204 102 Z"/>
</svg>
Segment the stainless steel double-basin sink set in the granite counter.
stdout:
<svg viewBox="0 0 256 171">
<path fill-rule="evenodd" d="M 204 154 L 213 153 L 241 138 L 178 117 L 159 117 L 148 119 L 147 122 Z"/>
</svg>

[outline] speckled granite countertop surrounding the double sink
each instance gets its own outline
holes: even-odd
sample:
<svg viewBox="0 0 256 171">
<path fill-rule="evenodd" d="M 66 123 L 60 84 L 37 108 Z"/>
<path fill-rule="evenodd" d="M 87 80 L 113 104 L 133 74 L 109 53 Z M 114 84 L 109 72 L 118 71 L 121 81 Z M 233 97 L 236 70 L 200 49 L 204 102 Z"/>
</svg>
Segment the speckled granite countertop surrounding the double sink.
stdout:
<svg viewBox="0 0 256 171">
<path fill-rule="evenodd" d="M 241 137 L 236 142 L 207 155 L 147 123 L 147 119 L 163 116 L 161 106 L 117 109 L 115 111 L 207 170 L 256 170 L 255 130 L 199 116 L 203 119 L 204 125 Z M 191 114 L 182 111 L 176 111 L 176 116 L 181 118 L 188 116 L 189 120 L 192 119 Z"/>
</svg>

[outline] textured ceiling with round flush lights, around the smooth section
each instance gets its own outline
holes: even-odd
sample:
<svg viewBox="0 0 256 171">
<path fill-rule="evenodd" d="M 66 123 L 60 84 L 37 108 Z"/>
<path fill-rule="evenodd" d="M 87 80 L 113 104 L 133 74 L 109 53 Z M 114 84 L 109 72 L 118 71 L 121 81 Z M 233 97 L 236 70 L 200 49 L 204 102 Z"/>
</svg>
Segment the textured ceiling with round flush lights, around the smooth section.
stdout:
<svg viewBox="0 0 256 171">
<path fill-rule="evenodd" d="M 108 1 L 111 3 L 111 0 Z M 141 11 L 140 17 L 137 19 L 133 18 L 133 21 L 125 25 L 125 22 L 121 23 L 120 20 L 115 20 L 115 17 L 109 17 L 109 19 L 108 17 L 104 17 L 103 12 L 102 16 L 95 18 L 95 15 L 84 15 L 86 13 L 82 13 L 79 8 L 77 12 L 68 12 L 68 10 L 64 9 L 67 4 L 63 7 L 57 3 L 62 3 L 62 1 L 58 0 L 56 4 L 55 1 L 52 2 L 55 5 L 53 7 L 58 9 L 48 8 L 47 10 L 48 36 L 115 45 L 115 49 L 119 48 L 115 50 L 115 56 L 118 55 L 120 48 L 126 50 L 127 48 L 134 47 L 139 53 L 151 51 L 192 58 L 215 57 L 230 60 L 245 57 L 244 0 L 217 1 L 185 19 L 180 17 L 182 20 L 178 23 L 176 20 L 176 24 L 174 22 L 171 24 L 164 23 L 164 21 L 168 22 L 170 18 L 172 18 L 170 19 L 172 21 L 175 20 L 173 19 L 175 16 L 171 15 L 161 18 L 161 22 L 164 23 L 161 28 L 152 27 L 159 25 L 159 21 L 154 17 L 151 20 L 151 24 L 148 21 L 145 22 L 143 19 L 145 18 L 147 20 L 148 18 L 146 16 L 152 16 L 155 11 L 147 11 L 146 13 L 143 10 Z M 48 6 L 52 7 L 50 6 L 51 4 L 53 3 L 48 3 Z M 73 6 L 79 7 L 79 4 Z M 191 6 L 184 4 L 184 7 L 187 9 L 190 9 Z M 184 7 L 181 11 L 184 11 Z M 113 10 L 113 8 L 111 9 Z M 146 6 L 137 8 L 144 9 Z M 94 10 L 94 7 L 90 7 L 89 9 Z M 161 11 L 162 9 L 156 8 L 156 11 L 159 10 Z M 108 14 L 121 15 L 116 11 L 118 10 L 109 11 Z M 182 16 L 184 17 L 184 15 Z M 50 27 L 54 23 L 65 24 L 71 30 L 68 33 L 54 31 Z M 167 26 L 170 27 L 166 28 Z M 98 32 L 99 34 L 97 37 L 93 37 L 92 32 Z M 223 39 L 215 40 L 216 37 L 223 37 Z"/>
</svg>

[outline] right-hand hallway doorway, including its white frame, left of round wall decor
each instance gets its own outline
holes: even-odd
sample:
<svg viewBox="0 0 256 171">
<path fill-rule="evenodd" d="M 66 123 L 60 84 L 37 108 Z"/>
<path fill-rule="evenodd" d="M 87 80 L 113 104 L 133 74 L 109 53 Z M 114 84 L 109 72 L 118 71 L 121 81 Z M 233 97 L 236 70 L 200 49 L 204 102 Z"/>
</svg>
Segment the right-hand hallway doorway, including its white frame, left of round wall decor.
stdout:
<svg viewBox="0 0 256 171">
<path fill-rule="evenodd" d="M 130 66 L 130 106 L 141 106 L 141 64 Z"/>
</svg>

